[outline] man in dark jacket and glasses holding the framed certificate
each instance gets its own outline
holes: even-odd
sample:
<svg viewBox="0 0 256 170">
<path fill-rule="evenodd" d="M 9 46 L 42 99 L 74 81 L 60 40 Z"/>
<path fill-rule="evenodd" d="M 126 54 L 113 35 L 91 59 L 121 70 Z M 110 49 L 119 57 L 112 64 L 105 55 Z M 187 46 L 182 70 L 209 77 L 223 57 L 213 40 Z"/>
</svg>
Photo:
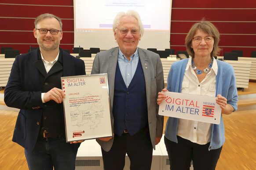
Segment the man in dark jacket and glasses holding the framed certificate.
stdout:
<svg viewBox="0 0 256 170">
<path fill-rule="evenodd" d="M 84 61 L 61 48 L 62 21 L 35 20 L 38 50 L 16 57 L 4 91 L 7 106 L 20 109 L 13 142 L 25 148 L 30 170 L 73 170 L 79 142 L 66 143 L 61 77 L 84 75 Z M 80 141 L 81 142 L 81 141 Z"/>
</svg>

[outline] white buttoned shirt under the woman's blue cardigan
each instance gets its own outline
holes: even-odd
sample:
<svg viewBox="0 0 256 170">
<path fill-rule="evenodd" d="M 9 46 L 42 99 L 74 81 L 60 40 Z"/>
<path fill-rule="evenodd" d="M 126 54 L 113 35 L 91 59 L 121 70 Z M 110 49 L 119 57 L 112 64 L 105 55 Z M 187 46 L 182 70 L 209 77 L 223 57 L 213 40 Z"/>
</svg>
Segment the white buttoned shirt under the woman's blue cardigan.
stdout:
<svg viewBox="0 0 256 170">
<path fill-rule="evenodd" d="M 181 93 L 211 96 L 216 93 L 216 75 L 218 72 L 217 61 L 213 59 L 212 69 L 199 83 L 198 78 L 191 66 L 190 57 L 185 70 Z M 212 124 L 194 120 L 179 119 L 177 135 L 191 142 L 205 145 L 211 141 Z"/>
</svg>

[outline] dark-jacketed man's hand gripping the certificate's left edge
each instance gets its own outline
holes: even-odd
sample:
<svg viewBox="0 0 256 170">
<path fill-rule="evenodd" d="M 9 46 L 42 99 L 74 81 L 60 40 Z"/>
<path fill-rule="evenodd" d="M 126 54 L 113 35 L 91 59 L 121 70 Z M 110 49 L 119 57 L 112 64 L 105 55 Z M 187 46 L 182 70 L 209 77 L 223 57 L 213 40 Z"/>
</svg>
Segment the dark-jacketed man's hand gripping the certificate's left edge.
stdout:
<svg viewBox="0 0 256 170">
<path fill-rule="evenodd" d="M 65 95 L 62 89 L 56 87 L 44 94 L 44 102 L 54 100 L 56 103 L 62 103 L 63 98 L 65 98 Z"/>
</svg>

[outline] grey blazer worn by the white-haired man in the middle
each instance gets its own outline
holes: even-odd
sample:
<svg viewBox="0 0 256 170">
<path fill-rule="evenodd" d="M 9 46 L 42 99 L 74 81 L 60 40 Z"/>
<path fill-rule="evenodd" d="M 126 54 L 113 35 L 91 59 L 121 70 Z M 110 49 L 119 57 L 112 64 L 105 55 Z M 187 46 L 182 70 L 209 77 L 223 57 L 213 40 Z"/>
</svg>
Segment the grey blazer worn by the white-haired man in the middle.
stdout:
<svg viewBox="0 0 256 170">
<path fill-rule="evenodd" d="M 118 53 L 119 47 L 97 53 L 91 70 L 91 74 L 108 74 L 111 108 L 113 106 L 114 81 L 117 68 Z M 148 109 L 150 138 L 152 146 L 155 149 L 156 137 L 162 136 L 164 124 L 164 117 L 158 115 L 157 105 L 157 93 L 161 92 L 161 90 L 165 87 L 163 67 L 158 54 L 141 48 L 138 48 L 138 53 L 146 83 L 146 101 Z M 113 115 L 111 118 L 113 123 Z M 102 149 L 108 152 L 112 147 L 113 138 L 108 142 L 97 139 L 97 142 L 99 145 L 101 145 Z"/>
</svg>

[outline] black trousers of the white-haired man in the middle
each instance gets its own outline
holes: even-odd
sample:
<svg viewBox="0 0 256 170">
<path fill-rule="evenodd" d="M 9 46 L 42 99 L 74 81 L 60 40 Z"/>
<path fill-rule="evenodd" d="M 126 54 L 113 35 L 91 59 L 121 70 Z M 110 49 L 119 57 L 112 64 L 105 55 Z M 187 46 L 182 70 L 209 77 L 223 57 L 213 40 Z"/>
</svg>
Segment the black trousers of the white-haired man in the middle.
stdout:
<svg viewBox="0 0 256 170">
<path fill-rule="evenodd" d="M 151 168 L 153 148 L 148 127 L 133 136 L 129 133 L 115 135 L 110 151 L 101 150 L 104 170 L 123 170 L 126 153 L 131 162 L 130 170 L 150 170 Z"/>
</svg>

